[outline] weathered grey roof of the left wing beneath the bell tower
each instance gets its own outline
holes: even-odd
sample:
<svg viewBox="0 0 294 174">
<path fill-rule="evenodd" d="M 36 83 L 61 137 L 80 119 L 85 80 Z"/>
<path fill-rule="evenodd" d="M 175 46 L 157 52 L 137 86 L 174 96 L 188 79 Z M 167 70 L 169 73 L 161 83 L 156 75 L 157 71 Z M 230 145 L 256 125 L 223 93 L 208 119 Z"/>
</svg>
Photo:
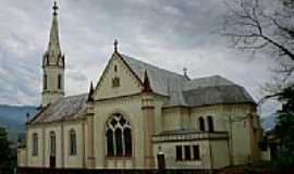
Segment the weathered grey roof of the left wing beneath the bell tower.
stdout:
<svg viewBox="0 0 294 174">
<path fill-rule="evenodd" d="M 49 104 L 30 120 L 30 124 L 74 120 L 86 113 L 88 95 L 64 97 Z"/>
</svg>

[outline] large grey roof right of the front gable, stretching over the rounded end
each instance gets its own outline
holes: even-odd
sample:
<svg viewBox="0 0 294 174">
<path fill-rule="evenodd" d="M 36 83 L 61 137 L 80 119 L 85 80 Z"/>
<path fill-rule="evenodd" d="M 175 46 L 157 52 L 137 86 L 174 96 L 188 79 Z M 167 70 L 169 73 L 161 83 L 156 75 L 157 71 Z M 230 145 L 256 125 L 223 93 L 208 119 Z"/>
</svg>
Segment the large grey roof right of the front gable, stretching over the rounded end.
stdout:
<svg viewBox="0 0 294 174">
<path fill-rule="evenodd" d="M 243 87 L 219 75 L 188 79 L 122 54 L 123 60 L 143 82 L 147 70 L 154 92 L 168 96 L 164 107 L 199 107 L 221 103 L 255 103 Z"/>
</svg>

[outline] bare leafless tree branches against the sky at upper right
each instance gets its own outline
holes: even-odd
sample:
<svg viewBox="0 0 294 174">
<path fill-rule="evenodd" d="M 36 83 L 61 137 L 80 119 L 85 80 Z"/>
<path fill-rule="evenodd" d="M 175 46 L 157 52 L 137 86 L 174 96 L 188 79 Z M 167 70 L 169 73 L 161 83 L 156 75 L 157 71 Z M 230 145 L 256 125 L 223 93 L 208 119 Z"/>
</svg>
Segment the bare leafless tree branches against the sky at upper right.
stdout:
<svg viewBox="0 0 294 174">
<path fill-rule="evenodd" d="M 222 35 L 234 48 L 243 51 L 262 51 L 278 61 L 274 83 L 269 97 L 293 82 L 294 72 L 294 0 L 228 0 Z"/>
</svg>

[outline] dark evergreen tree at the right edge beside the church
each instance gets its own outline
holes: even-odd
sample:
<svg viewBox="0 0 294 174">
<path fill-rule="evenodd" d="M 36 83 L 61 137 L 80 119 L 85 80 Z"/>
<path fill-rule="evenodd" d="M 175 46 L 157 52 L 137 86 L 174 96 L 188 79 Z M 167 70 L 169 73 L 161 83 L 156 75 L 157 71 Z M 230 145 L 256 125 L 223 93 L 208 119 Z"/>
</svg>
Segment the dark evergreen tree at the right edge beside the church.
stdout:
<svg viewBox="0 0 294 174">
<path fill-rule="evenodd" d="M 280 139 L 280 149 L 275 163 L 279 167 L 294 166 L 294 85 L 287 87 L 280 95 L 283 103 L 279 113 L 275 133 Z"/>
</svg>

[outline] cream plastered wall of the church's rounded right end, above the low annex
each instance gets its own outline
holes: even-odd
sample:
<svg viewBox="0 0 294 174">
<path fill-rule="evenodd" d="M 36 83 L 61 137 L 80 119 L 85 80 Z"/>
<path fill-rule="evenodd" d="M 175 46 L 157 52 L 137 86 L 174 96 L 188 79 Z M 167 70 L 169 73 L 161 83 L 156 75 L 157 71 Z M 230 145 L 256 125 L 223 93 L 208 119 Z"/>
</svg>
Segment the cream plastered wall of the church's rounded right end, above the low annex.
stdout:
<svg viewBox="0 0 294 174">
<path fill-rule="evenodd" d="M 218 104 L 195 108 L 192 110 L 192 123 L 194 123 L 195 129 L 199 129 L 198 119 L 203 116 L 206 121 L 206 129 L 208 129 L 207 116 L 212 116 L 215 130 L 229 133 L 233 163 L 245 164 L 248 163 L 250 156 L 250 132 L 246 117 L 250 108 L 250 104 Z M 230 134 L 231 129 L 232 135 Z"/>
</svg>

